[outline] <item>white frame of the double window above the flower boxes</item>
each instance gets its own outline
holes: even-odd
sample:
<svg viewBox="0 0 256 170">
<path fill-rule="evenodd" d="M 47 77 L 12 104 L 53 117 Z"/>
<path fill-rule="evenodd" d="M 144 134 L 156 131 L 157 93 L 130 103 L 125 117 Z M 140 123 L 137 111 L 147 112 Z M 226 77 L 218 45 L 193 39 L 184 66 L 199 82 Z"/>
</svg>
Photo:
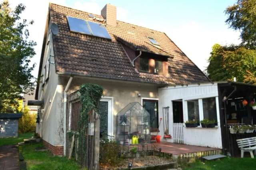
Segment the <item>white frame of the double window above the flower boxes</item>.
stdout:
<svg viewBox="0 0 256 170">
<path fill-rule="evenodd" d="M 208 99 L 208 98 L 215 98 L 215 103 L 216 103 L 216 114 L 217 114 L 217 126 L 219 126 L 219 121 L 220 120 L 220 114 L 219 114 L 219 110 L 218 110 L 218 105 L 219 105 L 219 101 L 218 101 L 218 96 L 209 96 L 209 97 L 204 97 L 204 98 L 191 98 L 189 100 L 185 100 L 185 108 L 186 108 L 186 119 L 188 121 L 188 101 L 192 101 L 192 100 L 198 100 L 198 110 L 199 110 L 199 121 L 204 120 L 204 109 L 203 109 L 203 100 L 202 99 Z M 185 120 L 184 120 L 185 121 Z M 198 126 L 201 127 L 201 124 Z"/>
</svg>

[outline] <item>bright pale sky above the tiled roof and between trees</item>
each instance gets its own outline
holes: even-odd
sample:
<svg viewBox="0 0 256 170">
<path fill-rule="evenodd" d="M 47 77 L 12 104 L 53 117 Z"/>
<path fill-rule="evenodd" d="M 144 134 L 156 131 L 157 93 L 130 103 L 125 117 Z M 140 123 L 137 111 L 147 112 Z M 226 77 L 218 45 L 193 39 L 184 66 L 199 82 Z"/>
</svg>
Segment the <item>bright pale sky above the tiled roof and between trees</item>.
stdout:
<svg viewBox="0 0 256 170">
<path fill-rule="evenodd" d="M 225 24 L 226 7 L 236 0 L 10 0 L 14 8 L 18 3 L 26 6 L 22 18 L 34 20 L 29 27 L 30 39 L 34 40 L 36 63 L 33 75 L 37 77 L 46 15 L 49 2 L 100 14 L 106 3 L 117 6 L 117 19 L 165 32 L 201 69 L 208 65 L 214 43 L 238 44 L 239 32 Z"/>
</svg>

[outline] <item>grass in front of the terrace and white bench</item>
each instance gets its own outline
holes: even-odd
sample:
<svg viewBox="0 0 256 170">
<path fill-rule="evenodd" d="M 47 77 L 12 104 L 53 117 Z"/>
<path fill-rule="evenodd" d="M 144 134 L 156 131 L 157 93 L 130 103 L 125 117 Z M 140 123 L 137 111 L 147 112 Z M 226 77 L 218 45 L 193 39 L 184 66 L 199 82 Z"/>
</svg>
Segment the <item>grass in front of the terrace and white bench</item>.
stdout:
<svg viewBox="0 0 256 170">
<path fill-rule="evenodd" d="M 220 160 L 212 160 L 196 162 L 189 164 L 183 170 L 255 170 L 256 160 L 252 158 L 222 158 Z"/>
</svg>

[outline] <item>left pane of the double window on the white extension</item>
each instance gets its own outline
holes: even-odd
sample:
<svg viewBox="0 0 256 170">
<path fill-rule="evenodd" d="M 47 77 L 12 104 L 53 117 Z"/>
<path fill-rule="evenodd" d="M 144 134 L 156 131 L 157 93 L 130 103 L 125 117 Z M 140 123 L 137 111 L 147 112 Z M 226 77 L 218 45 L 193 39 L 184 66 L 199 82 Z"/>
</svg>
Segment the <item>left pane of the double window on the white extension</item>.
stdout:
<svg viewBox="0 0 256 170">
<path fill-rule="evenodd" d="M 187 101 L 187 105 L 188 105 L 188 120 L 197 121 L 198 125 L 200 125 L 198 100 Z"/>
</svg>

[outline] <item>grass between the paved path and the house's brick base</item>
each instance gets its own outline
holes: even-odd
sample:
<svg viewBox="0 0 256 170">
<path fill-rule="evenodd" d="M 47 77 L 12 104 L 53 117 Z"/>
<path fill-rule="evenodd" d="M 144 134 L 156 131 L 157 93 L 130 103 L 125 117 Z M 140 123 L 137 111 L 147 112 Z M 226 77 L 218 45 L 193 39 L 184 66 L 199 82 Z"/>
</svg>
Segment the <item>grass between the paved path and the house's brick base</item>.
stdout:
<svg viewBox="0 0 256 170">
<path fill-rule="evenodd" d="M 24 144 L 20 147 L 28 170 L 80 170 L 81 167 L 74 160 L 66 157 L 53 156 L 48 151 L 35 151 L 42 143 Z"/>
</svg>

